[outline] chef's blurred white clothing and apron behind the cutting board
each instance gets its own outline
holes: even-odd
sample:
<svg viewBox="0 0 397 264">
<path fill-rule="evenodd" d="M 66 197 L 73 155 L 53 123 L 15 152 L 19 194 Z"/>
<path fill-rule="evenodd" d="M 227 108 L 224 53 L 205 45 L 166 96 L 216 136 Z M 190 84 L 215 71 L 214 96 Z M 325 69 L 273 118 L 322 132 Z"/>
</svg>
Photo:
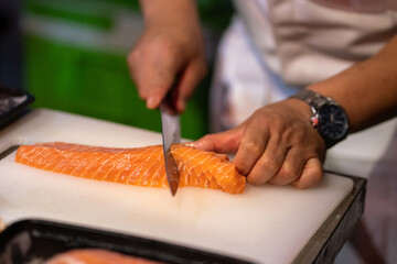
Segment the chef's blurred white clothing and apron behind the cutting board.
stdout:
<svg viewBox="0 0 397 264">
<path fill-rule="evenodd" d="M 234 2 L 237 15 L 221 42 L 211 90 L 212 132 L 236 127 L 258 108 L 368 58 L 397 34 L 397 0 Z M 362 177 L 377 174 L 373 180 L 386 183 L 388 189 L 380 191 L 368 185 L 368 194 L 389 194 L 383 215 L 368 221 L 385 228 L 382 219 L 388 217 L 387 238 L 378 237 L 377 242 L 394 262 L 397 151 L 389 146 L 397 146 L 396 128 L 394 119 L 348 135 L 328 152 L 324 165 Z"/>
</svg>

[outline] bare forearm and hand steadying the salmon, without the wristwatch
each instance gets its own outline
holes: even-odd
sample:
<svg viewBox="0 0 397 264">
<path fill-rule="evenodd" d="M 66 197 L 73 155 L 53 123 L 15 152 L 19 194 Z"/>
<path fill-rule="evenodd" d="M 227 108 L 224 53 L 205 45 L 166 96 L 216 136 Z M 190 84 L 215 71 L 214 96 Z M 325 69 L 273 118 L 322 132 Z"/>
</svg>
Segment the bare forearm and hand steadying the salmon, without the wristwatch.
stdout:
<svg viewBox="0 0 397 264">
<path fill-rule="evenodd" d="M 397 37 L 372 58 L 308 89 L 337 101 L 348 116 L 351 132 L 396 116 Z M 309 188 L 323 176 L 326 151 L 310 118 L 305 102 L 289 98 L 257 110 L 233 130 L 206 135 L 192 145 L 236 153 L 236 168 L 250 184 Z"/>
</svg>

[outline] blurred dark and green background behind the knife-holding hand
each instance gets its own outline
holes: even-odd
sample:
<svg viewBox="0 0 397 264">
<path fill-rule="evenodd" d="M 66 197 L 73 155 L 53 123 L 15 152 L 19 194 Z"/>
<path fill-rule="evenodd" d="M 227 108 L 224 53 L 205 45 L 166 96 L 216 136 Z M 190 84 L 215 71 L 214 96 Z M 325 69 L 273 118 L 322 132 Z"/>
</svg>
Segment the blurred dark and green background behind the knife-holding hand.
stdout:
<svg viewBox="0 0 397 264">
<path fill-rule="evenodd" d="M 207 133 L 211 68 L 232 13 L 229 0 L 200 0 L 210 70 L 182 114 L 182 136 Z M 0 84 L 50 108 L 160 131 L 130 79 L 126 56 L 143 28 L 137 0 L 0 0 Z"/>
</svg>

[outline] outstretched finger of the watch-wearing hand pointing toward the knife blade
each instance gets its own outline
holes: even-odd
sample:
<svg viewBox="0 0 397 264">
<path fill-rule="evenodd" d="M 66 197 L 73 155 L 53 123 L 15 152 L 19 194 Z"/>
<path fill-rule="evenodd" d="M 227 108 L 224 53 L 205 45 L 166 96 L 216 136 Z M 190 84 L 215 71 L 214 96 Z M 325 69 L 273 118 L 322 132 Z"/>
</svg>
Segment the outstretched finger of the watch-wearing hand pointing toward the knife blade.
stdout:
<svg viewBox="0 0 397 264">
<path fill-rule="evenodd" d="M 207 134 L 189 143 L 190 146 L 217 153 L 236 153 L 243 136 L 243 129 L 236 128 L 216 134 Z"/>
</svg>

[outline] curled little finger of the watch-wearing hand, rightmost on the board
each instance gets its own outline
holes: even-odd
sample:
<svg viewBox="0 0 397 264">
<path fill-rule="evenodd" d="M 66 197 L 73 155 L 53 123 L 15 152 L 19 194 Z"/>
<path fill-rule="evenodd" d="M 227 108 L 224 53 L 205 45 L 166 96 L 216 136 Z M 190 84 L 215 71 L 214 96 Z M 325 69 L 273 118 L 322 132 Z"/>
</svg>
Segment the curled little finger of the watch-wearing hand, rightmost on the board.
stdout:
<svg viewBox="0 0 397 264">
<path fill-rule="evenodd" d="M 302 174 L 292 185 L 299 189 L 305 189 L 318 185 L 323 176 L 322 163 L 319 157 L 312 157 L 305 163 Z"/>
</svg>

